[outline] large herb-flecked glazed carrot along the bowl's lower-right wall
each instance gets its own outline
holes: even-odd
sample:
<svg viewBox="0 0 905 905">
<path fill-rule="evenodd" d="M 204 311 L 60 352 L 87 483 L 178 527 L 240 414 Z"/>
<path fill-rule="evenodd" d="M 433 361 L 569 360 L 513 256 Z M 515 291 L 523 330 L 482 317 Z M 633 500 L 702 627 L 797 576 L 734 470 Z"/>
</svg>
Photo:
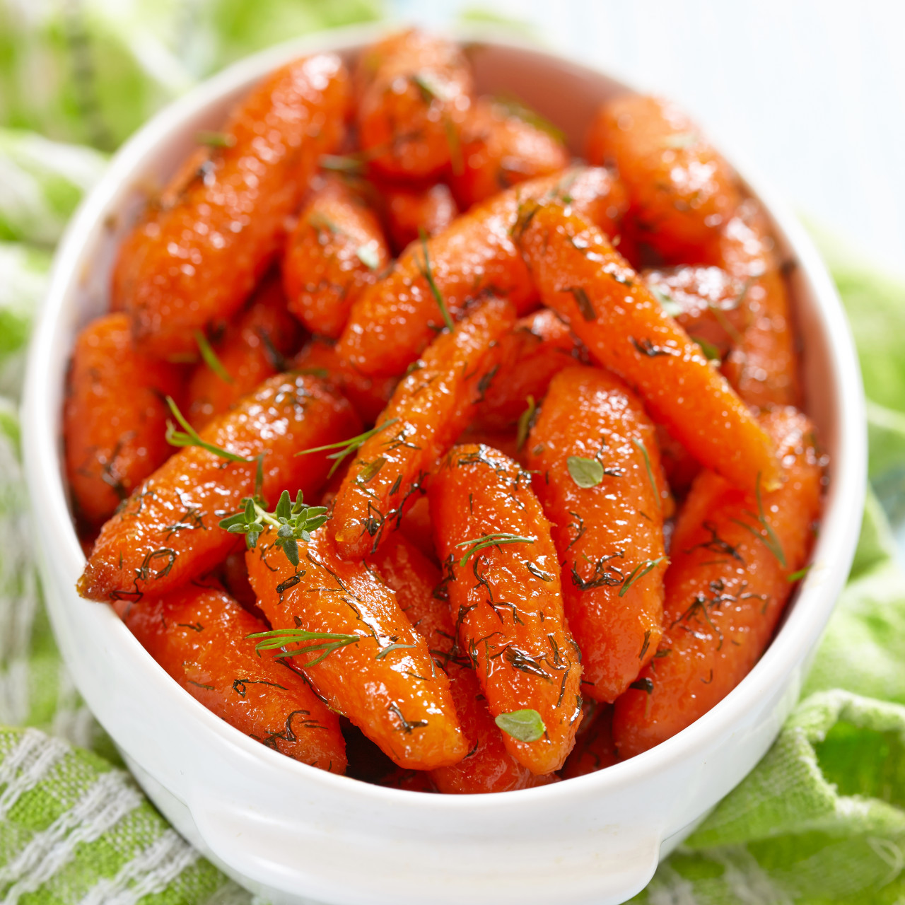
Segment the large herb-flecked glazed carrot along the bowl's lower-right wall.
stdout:
<svg viewBox="0 0 905 905">
<path fill-rule="evenodd" d="M 681 510 L 666 573 L 665 631 L 616 701 L 614 739 L 633 757 L 675 735 L 738 685 L 767 647 L 805 565 L 820 514 L 822 462 L 805 415 L 763 416 L 786 481 L 752 493 L 701 472 Z"/>
</svg>

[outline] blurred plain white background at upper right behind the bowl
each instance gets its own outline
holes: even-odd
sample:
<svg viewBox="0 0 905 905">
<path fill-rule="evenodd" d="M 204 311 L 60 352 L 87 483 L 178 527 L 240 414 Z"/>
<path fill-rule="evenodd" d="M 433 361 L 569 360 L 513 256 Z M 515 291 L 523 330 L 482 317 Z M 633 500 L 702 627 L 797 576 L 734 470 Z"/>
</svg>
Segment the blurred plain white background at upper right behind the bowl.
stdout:
<svg viewBox="0 0 905 905">
<path fill-rule="evenodd" d="M 390 0 L 481 8 L 667 94 L 795 208 L 905 275 L 905 0 Z"/>
</svg>

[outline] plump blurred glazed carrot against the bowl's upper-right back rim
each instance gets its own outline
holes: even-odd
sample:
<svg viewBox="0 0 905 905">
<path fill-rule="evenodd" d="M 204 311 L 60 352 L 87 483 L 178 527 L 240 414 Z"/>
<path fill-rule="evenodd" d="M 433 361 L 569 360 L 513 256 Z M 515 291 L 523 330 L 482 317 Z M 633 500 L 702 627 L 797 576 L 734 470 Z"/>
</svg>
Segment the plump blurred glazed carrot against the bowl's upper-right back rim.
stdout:
<svg viewBox="0 0 905 905">
<path fill-rule="evenodd" d="M 598 110 L 592 164 L 613 163 L 628 187 L 637 232 L 669 261 L 700 261 L 741 201 L 729 164 L 681 110 L 624 95 Z"/>
</svg>

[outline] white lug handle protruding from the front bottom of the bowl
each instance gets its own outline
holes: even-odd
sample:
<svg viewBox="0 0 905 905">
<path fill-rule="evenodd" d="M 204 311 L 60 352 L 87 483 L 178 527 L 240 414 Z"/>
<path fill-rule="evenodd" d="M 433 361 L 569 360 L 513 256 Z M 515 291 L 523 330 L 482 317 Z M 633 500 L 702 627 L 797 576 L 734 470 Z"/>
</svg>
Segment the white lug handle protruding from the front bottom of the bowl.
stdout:
<svg viewBox="0 0 905 905">
<path fill-rule="evenodd" d="M 461 905 L 477 888 L 495 905 L 619 905 L 653 877 L 662 840 L 650 826 L 610 825 L 551 853 L 549 838 L 487 844 L 427 826 L 354 834 L 348 825 L 199 804 L 191 810 L 212 860 L 281 905 Z"/>
</svg>

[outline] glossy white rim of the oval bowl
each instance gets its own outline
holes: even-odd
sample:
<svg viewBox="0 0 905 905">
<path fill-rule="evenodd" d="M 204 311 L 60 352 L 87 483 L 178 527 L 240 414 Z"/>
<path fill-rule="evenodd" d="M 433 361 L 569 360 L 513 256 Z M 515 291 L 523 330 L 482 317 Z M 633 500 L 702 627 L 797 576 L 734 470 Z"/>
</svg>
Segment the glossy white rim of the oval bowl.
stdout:
<svg viewBox="0 0 905 905">
<path fill-rule="evenodd" d="M 59 441 L 61 411 L 48 402 L 58 394 L 62 399 L 62 393 L 59 387 L 54 389 L 51 386 L 49 375 L 53 373 L 53 368 L 49 367 L 49 362 L 55 342 L 59 345 L 61 316 L 67 310 L 67 303 L 71 302 L 69 297 L 74 292 L 73 287 L 81 279 L 83 265 L 90 261 L 90 251 L 104 217 L 109 214 L 110 208 L 121 203 L 121 195 L 134 181 L 135 174 L 140 172 L 153 149 L 180 128 L 185 128 L 186 122 L 200 110 L 211 106 L 224 95 L 251 84 L 267 71 L 294 57 L 307 52 L 354 50 L 358 45 L 373 41 L 397 27 L 398 23 L 382 22 L 306 35 L 256 52 L 200 82 L 158 111 L 129 138 L 112 157 L 100 182 L 82 201 L 71 219 L 55 254 L 50 287 L 40 319 L 33 330 L 24 393 L 23 449 L 33 509 L 39 511 L 41 518 L 47 521 L 48 529 L 55 538 L 54 557 L 62 561 L 64 569 L 73 578 L 81 574 L 85 558 L 66 501 Z M 602 75 L 627 91 L 637 92 L 632 85 L 610 75 L 602 67 L 584 61 L 570 61 L 560 53 L 539 47 L 498 26 L 447 27 L 432 31 L 447 33 L 456 40 L 468 43 L 496 44 L 503 49 L 531 52 L 546 58 L 562 70 L 587 72 L 598 77 Z M 706 125 L 704 123 L 705 128 Z M 780 233 L 794 253 L 800 271 L 812 286 L 815 301 L 813 314 L 821 322 L 831 362 L 830 369 L 838 385 L 838 395 L 833 400 L 838 450 L 831 464 L 832 495 L 825 503 L 821 534 L 812 552 L 812 562 L 820 556 L 825 572 L 841 572 L 840 562 L 845 567 L 841 577 L 835 576 L 827 582 L 820 580 L 820 569 L 812 569 L 805 576 L 796 591 L 795 605 L 786 611 L 785 623 L 781 625 L 767 651 L 738 686 L 672 738 L 604 770 L 577 776 L 567 782 L 507 793 L 415 795 L 405 789 L 376 786 L 361 781 L 350 783 L 348 776 L 334 775 L 301 764 L 246 737 L 240 730 L 215 717 L 172 681 L 129 633 L 112 609 L 99 605 L 98 626 L 110 633 L 109 636 L 115 643 L 132 645 L 135 668 L 141 671 L 144 681 L 152 683 L 157 687 L 158 693 L 167 696 L 167 702 L 172 703 L 173 719 L 177 719 L 180 710 L 187 708 L 188 714 L 199 720 L 199 726 L 213 731 L 218 740 L 229 748 L 239 748 L 252 758 L 263 758 L 264 763 L 269 762 L 271 767 L 294 771 L 290 775 L 298 778 L 293 781 L 320 784 L 334 794 L 366 795 L 385 805 L 413 805 L 417 799 L 424 806 L 439 808 L 443 813 L 465 809 L 473 811 L 476 806 L 497 810 L 500 807 L 520 807 L 529 801 L 548 800 L 551 796 L 561 800 L 569 796 L 585 798 L 588 793 L 605 795 L 615 787 L 643 782 L 645 777 L 659 773 L 678 761 L 700 755 L 719 736 L 732 728 L 739 714 L 755 708 L 757 702 L 763 700 L 769 691 L 775 690 L 780 681 L 786 680 L 822 633 L 853 557 L 866 488 L 864 396 L 853 338 L 842 303 L 814 243 L 786 203 L 757 176 L 747 161 L 740 158 L 738 153 L 727 155 L 727 158 L 748 185 L 752 195 L 756 195 L 763 204 L 777 233 Z M 71 350 L 71 336 L 66 348 Z M 852 511 L 858 513 L 858 518 L 852 518 Z M 75 594 L 74 587 L 71 593 Z M 822 596 L 825 599 L 821 600 Z M 803 601 L 805 605 L 802 605 Z M 269 761 L 269 758 L 275 759 Z M 144 767 L 140 761 L 138 763 Z"/>
</svg>

